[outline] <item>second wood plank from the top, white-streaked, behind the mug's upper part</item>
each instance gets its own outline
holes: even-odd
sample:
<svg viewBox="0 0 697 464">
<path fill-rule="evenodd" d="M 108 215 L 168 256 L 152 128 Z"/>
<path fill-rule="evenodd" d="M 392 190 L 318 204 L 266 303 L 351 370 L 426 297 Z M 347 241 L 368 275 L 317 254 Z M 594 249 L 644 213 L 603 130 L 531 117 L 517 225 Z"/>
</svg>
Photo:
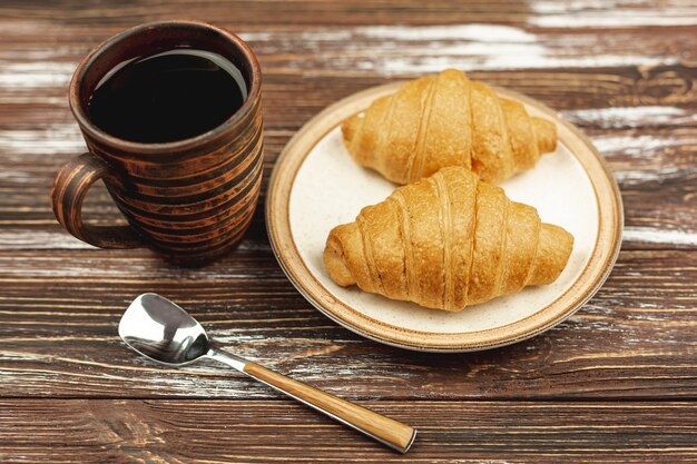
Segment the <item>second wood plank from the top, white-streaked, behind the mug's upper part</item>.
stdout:
<svg viewBox="0 0 697 464">
<path fill-rule="evenodd" d="M 0 82 L 7 86 L 0 88 L 0 101 L 27 106 L 29 112 L 41 107 L 65 110 L 65 89 L 77 62 L 91 47 L 121 30 L 1 19 L 0 24 L 7 31 L 0 45 Z M 247 26 L 236 32 L 259 56 L 265 95 L 274 96 L 266 98 L 267 108 L 283 105 L 303 111 L 310 107 L 314 113 L 316 100 L 298 87 L 303 83 L 321 96 L 336 89 L 334 79 L 344 78 L 342 87 L 347 95 L 385 78 L 415 77 L 448 67 L 530 93 L 562 110 L 694 103 L 695 88 L 688 83 L 695 79 L 690 39 L 696 27 L 697 20 L 695 27 L 651 28 L 650 32 L 646 28 L 559 30 L 495 23 L 272 24 Z M 295 98 L 294 89 L 302 99 Z M 14 109 L 6 108 L 3 111 Z M 293 112 L 268 113 L 286 124 L 295 120 Z M 46 122 L 70 121 L 67 111 L 59 120 L 41 112 L 35 117 Z M 7 122 L 29 121 L 14 118 Z M 267 122 L 273 127 L 275 121 Z"/>
</svg>

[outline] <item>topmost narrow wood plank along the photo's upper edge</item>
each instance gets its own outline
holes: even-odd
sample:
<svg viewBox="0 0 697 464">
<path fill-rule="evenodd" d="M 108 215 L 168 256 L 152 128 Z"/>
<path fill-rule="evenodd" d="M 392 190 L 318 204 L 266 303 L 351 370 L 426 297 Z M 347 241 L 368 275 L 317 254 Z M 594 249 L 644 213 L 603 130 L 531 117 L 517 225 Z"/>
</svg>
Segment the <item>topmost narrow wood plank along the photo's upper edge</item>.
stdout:
<svg viewBox="0 0 697 464">
<path fill-rule="evenodd" d="M 269 18 L 273 11 L 273 18 Z M 0 18 L 51 20 L 59 23 L 132 24 L 134 21 L 190 17 L 229 18 L 235 24 L 277 23 L 530 23 L 546 28 L 627 26 L 679 26 L 697 22 L 697 8 L 689 0 L 593 1 L 572 3 L 550 0 L 518 2 L 513 0 L 451 2 L 446 0 L 243 0 L 230 6 L 225 0 L 163 2 L 147 0 L 124 3 L 76 4 L 69 0 L 31 2 L 6 0 Z"/>
</svg>

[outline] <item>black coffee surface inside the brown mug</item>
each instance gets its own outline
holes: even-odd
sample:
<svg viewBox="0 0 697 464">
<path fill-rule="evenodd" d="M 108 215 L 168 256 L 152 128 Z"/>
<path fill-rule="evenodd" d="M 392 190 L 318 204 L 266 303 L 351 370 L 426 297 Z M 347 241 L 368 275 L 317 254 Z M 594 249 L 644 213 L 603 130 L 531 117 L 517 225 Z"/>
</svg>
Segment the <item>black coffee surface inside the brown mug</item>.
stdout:
<svg viewBox="0 0 697 464">
<path fill-rule="evenodd" d="M 97 85 L 88 111 L 115 137 L 166 142 L 219 126 L 246 97 L 240 71 L 226 58 L 175 49 L 116 66 Z"/>
</svg>

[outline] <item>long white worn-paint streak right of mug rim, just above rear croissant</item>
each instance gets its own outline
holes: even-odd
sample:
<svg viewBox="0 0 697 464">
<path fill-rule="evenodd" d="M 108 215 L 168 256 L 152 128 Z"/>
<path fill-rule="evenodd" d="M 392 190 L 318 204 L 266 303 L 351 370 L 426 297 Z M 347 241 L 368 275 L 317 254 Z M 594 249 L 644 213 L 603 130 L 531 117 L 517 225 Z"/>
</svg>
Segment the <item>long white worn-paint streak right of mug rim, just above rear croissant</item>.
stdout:
<svg viewBox="0 0 697 464">
<path fill-rule="evenodd" d="M 293 52 L 306 59 L 274 59 L 269 68 L 292 68 L 316 75 L 323 68 L 381 76 L 420 75 L 454 67 L 464 70 L 540 69 L 674 65 L 656 56 L 612 47 L 593 34 L 550 40 L 521 28 L 501 24 L 367 26 L 277 30 L 242 34 L 264 55 Z M 587 55 L 579 50 L 589 50 Z M 591 52 L 592 50 L 592 52 Z"/>
</svg>

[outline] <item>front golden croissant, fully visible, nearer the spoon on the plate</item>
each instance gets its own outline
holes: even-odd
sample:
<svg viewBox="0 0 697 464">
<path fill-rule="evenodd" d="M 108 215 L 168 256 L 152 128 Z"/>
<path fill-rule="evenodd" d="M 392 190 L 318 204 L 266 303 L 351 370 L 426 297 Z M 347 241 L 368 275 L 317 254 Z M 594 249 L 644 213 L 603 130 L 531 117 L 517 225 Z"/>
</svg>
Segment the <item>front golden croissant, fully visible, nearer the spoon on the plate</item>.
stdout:
<svg viewBox="0 0 697 464">
<path fill-rule="evenodd" d="M 335 227 L 324 264 L 341 285 L 460 310 L 551 284 L 573 237 L 461 167 L 444 168 Z"/>
</svg>

